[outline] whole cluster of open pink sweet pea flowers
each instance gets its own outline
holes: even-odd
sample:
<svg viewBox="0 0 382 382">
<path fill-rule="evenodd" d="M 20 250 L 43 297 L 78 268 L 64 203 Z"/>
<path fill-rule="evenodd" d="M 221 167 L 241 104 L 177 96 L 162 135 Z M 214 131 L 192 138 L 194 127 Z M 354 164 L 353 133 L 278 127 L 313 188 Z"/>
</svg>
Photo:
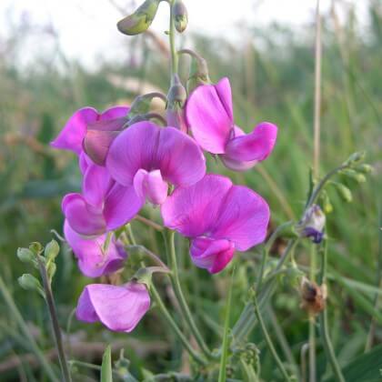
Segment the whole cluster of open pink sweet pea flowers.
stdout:
<svg viewBox="0 0 382 382">
<path fill-rule="evenodd" d="M 160 206 L 164 226 L 188 237 L 192 261 L 212 274 L 236 251 L 265 239 L 266 201 L 226 176 L 206 174 L 203 150 L 243 171 L 266 159 L 276 142 L 275 125 L 262 123 L 248 135 L 235 125 L 227 78 L 196 87 L 186 100 L 182 126 L 132 122 L 130 112 L 126 106 L 103 113 L 85 107 L 52 142 L 75 152 L 83 175 L 82 192 L 64 196 L 62 210 L 66 241 L 85 276 L 124 266 L 126 249 L 114 233 L 146 202 Z M 77 317 L 128 332 L 149 306 L 147 287 L 139 281 L 92 284 L 79 299 Z"/>
</svg>

